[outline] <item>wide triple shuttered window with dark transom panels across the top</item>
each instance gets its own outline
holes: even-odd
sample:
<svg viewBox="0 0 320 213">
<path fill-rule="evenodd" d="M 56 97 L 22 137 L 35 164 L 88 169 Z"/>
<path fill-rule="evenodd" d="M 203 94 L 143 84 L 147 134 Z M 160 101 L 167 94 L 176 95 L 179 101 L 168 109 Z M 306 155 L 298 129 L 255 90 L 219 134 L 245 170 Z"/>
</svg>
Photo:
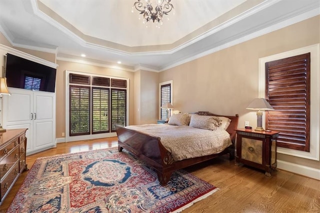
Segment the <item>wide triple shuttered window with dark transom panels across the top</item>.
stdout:
<svg viewBox="0 0 320 213">
<path fill-rule="evenodd" d="M 126 125 L 126 80 L 70 73 L 69 98 L 70 136 Z"/>
</svg>

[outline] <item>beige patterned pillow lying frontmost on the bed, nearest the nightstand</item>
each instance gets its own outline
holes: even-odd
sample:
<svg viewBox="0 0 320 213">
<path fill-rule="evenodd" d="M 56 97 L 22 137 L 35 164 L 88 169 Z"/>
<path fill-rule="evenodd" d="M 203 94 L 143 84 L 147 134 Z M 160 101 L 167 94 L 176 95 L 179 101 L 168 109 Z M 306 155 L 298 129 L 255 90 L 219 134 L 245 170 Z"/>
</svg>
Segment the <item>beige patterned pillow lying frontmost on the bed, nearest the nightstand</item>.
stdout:
<svg viewBox="0 0 320 213">
<path fill-rule="evenodd" d="M 192 114 L 189 126 L 214 130 L 221 125 L 221 119 L 216 116 Z"/>
</svg>

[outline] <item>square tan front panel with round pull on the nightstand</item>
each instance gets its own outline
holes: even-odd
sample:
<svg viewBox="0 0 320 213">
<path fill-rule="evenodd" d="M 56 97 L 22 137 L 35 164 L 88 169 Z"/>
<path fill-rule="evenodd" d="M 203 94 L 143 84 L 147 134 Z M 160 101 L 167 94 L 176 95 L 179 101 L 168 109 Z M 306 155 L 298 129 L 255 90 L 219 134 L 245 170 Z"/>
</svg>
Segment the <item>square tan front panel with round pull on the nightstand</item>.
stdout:
<svg viewBox="0 0 320 213">
<path fill-rule="evenodd" d="M 262 140 L 242 137 L 241 158 L 262 164 Z"/>
</svg>

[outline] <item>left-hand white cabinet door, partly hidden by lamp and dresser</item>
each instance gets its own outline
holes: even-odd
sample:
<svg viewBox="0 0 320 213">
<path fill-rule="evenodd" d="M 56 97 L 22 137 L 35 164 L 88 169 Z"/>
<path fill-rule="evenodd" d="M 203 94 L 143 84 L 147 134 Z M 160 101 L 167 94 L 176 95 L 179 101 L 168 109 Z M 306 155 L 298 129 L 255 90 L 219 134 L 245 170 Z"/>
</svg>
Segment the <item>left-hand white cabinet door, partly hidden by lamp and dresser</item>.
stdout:
<svg viewBox="0 0 320 213">
<path fill-rule="evenodd" d="M 3 95 L 3 127 L 6 129 L 27 128 L 26 151 L 32 147 L 32 124 L 33 124 L 33 94 L 32 91 L 9 87 L 10 96 Z"/>
</svg>

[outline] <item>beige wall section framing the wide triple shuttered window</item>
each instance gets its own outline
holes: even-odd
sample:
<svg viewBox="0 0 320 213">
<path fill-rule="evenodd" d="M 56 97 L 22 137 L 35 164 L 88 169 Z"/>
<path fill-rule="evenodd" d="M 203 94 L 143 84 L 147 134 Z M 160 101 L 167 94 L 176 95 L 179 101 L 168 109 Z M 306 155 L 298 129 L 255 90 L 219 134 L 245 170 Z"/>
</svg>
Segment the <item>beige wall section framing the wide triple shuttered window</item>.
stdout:
<svg viewBox="0 0 320 213">
<path fill-rule="evenodd" d="M 56 72 L 56 137 L 62 137 L 65 132 L 65 70 L 80 71 L 108 76 L 125 77 L 129 79 L 129 124 L 133 124 L 133 72 L 106 68 L 83 63 L 57 60 Z"/>
</svg>

